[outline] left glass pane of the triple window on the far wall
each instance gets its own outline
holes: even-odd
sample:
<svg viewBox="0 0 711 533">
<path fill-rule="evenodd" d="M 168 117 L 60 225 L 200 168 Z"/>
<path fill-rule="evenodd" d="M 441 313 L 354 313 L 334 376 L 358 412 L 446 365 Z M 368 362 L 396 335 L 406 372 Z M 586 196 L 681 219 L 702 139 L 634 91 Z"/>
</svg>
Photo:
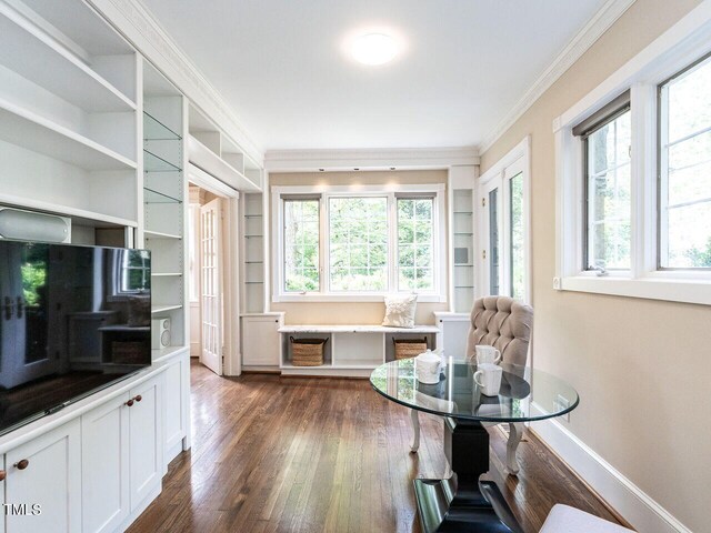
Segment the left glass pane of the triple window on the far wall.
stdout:
<svg viewBox="0 0 711 533">
<path fill-rule="evenodd" d="M 284 200 L 284 290 L 319 290 L 319 200 Z"/>
</svg>

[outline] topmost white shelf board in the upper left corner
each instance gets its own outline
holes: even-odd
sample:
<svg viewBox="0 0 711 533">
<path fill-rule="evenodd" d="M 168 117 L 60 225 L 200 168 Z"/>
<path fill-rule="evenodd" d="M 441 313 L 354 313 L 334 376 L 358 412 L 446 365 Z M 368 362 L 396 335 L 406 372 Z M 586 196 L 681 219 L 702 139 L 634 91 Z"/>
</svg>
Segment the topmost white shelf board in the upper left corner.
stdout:
<svg viewBox="0 0 711 533">
<path fill-rule="evenodd" d="M 0 50 L 0 64 L 87 112 L 136 110 L 128 97 L 3 2 Z"/>
</svg>

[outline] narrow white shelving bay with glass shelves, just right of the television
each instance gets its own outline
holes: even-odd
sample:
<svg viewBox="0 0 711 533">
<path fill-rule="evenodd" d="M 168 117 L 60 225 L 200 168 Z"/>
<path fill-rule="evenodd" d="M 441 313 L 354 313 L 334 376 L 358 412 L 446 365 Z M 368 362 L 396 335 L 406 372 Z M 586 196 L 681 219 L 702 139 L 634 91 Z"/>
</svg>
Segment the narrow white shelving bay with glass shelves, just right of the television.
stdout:
<svg viewBox="0 0 711 533">
<path fill-rule="evenodd" d="M 143 78 L 143 243 L 151 250 L 151 314 L 154 319 L 169 318 L 171 345 L 183 346 L 188 292 L 183 275 L 187 104 L 151 66 L 144 66 Z"/>
</svg>

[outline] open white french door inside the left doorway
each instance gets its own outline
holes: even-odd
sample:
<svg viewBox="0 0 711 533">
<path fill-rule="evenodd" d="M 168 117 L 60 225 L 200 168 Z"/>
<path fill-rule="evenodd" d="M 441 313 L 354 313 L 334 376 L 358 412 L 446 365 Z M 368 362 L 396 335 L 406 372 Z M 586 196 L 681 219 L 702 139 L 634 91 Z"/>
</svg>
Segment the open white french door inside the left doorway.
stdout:
<svg viewBox="0 0 711 533">
<path fill-rule="evenodd" d="M 200 208 L 202 351 L 200 362 L 222 375 L 222 200 Z"/>
</svg>

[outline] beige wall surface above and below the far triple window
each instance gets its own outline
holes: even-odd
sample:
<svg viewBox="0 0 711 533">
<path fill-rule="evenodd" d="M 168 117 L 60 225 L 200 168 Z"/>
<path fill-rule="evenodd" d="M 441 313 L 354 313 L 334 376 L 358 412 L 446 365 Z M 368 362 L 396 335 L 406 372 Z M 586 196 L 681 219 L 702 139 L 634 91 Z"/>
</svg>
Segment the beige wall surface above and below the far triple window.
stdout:
<svg viewBox="0 0 711 533">
<path fill-rule="evenodd" d="M 445 170 L 388 172 L 298 172 L 269 174 L 269 185 L 369 185 L 447 183 Z M 271 207 L 271 199 L 269 202 Z M 449 234 L 449 232 L 447 232 Z M 273 238 L 273 232 L 272 232 Z M 270 244 L 271 245 L 271 244 Z M 271 250 L 271 249 L 270 249 Z M 447 251 L 447 243 L 444 244 Z M 447 257 L 447 252 L 444 252 Z M 273 264 L 272 264 L 273 266 Z M 272 303 L 272 311 L 286 311 L 288 324 L 380 324 L 385 312 L 381 302 Z M 447 311 L 447 303 L 418 303 L 415 322 L 433 324 L 433 311 Z"/>
</svg>

